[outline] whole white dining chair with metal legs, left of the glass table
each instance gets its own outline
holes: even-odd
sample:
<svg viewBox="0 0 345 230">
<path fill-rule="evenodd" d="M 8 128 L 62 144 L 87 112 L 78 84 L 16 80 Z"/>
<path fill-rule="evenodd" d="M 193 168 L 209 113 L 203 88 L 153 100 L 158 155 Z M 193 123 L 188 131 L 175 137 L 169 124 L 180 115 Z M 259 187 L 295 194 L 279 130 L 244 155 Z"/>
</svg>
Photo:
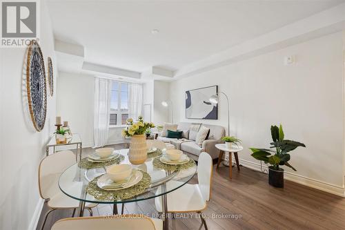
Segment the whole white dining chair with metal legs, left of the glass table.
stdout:
<svg viewBox="0 0 345 230">
<path fill-rule="evenodd" d="M 49 207 L 49 211 L 46 213 L 41 229 L 48 218 L 49 213 L 57 209 L 74 209 L 79 207 L 79 201 L 70 198 L 65 195 L 59 189 L 59 178 L 61 173 L 68 169 L 69 166 L 75 164 L 75 155 L 72 151 L 60 151 L 41 160 L 39 164 L 39 195 L 46 200 Z M 81 186 L 76 186 L 73 189 L 81 189 Z M 96 207 L 97 204 L 86 204 L 86 209 L 90 211 L 92 215 L 92 207 Z"/>
</svg>

